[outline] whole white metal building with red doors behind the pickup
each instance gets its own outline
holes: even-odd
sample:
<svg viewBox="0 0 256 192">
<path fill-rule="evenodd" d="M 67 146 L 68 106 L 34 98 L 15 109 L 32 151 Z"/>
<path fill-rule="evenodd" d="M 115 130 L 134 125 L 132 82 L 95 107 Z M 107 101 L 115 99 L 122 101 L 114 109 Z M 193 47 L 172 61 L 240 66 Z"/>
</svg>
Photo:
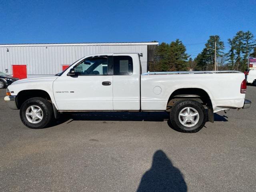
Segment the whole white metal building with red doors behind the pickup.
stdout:
<svg viewBox="0 0 256 192">
<path fill-rule="evenodd" d="M 24 78 L 24 73 L 28 78 L 46 76 L 61 72 L 68 65 L 87 55 L 138 52 L 143 54 L 141 64 L 144 73 L 147 72 L 147 62 L 153 61 L 157 45 L 158 42 L 2 44 L 0 71 L 16 75 L 18 78 Z"/>
</svg>

